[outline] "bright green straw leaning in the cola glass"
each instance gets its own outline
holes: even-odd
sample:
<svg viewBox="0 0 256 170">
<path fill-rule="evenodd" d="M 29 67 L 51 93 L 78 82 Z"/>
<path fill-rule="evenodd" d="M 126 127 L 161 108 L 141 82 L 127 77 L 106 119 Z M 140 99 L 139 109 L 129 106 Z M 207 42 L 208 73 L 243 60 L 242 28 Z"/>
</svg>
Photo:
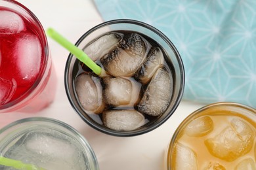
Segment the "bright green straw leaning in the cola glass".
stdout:
<svg viewBox="0 0 256 170">
<path fill-rule="evenodd" d="M 71 54 L 73 54 L 77 59 L 81 62 L 85 63 L 87 67 L 89 67 L 96 75 L 100 76 L 101 74 L 101 67 L 96 65 L 96 63 L 83 52 L 83 50 L 77 48 L 72 42 L 68 41 L 62 35 L 60 35 L 57 31 L 53 28 L 49 28 L 46 31 L 47 35 L 49 35 L 52 39 L 66 48 Z"/>
</svg>

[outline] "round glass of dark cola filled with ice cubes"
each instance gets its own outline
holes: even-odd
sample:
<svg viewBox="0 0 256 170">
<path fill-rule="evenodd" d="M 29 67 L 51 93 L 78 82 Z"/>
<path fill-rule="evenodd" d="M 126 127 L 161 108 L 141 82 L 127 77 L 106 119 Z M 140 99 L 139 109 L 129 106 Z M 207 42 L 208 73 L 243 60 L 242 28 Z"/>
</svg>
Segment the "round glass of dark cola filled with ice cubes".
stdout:
<svg viewBox="0 0 256 170">
<path fill-rule="evenodd" d="M 106 71 L 97 76 L 72 54 L 66 63 L 68 99 L 89 126 L 109 135 L 140 135 L 177 109 L 184 90 L 182 59 L 155 27 L 112 20 L 87 31 L 75 45 Z"/>
</svg>

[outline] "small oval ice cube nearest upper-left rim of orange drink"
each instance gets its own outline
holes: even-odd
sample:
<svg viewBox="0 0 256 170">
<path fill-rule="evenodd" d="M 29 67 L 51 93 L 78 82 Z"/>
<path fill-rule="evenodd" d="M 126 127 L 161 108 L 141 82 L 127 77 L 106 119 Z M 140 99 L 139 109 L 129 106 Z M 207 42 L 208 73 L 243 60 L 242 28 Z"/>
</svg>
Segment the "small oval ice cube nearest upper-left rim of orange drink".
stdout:
<svg viewBox="0 0 256 170">
<path fill-rule="evenodd" d="M 192 120 L 184 129 L 186 135 L 202 137 L 213 130 L 213 120 L 209 116 L 202 116 Z"/>
</svg>

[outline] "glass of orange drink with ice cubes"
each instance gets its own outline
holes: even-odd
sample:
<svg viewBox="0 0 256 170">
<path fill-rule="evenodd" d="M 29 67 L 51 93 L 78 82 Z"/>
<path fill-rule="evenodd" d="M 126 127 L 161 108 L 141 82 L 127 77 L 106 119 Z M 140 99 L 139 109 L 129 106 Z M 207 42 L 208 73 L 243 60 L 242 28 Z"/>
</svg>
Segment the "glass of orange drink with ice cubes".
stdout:
<svg viewBox="0 0 256 170">
<path fill-rule="evenodd" d="M 190 114 L 167 149 L 167 169 L 256 169 L 256 110 L 213 103 Z"/>
</svg>

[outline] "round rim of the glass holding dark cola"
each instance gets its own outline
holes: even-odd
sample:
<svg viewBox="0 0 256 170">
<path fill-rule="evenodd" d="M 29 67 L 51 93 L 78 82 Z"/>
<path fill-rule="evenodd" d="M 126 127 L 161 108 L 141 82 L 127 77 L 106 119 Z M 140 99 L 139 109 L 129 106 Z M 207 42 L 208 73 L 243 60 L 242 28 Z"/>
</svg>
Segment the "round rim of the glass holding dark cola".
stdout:
<svg viewBox="0 0 256 170">
<path fill-rule="evenodd" d="M 157 127 L 161 126 L 161 124 L 166 122 L 169 119 L 169 117 L 175 112 L 177 107 L 179 106 L 179 103 L 181 102 L 181 99 L 182 99 L 182 95 L 184 93 L 184 84 L 185 84 L 184 65 L 182 63 L 182 59 L 181 59 L 181 56 L 180 56 L 177 48 L 174 46 L 174 44 L 163 33 L 161 33 L 160 30 L 156 29 L 156 27 L 153 27 L 152 25 L 149 25 L 149 24 L 146 24 L 144 22 L 137 21 L 137 20 L 117 19 L 117 20 L 109 20 L 109 21 L 103 22 L 101 24 L 98 24 L 95 27 L 89 29 L 89 31 L 86 31 L 78 39 L 78 41 L 75 42 L 75 46 L 79 46 L 79 44 L 81 44 L 83 39 L 85 39 L 88 35 L 93 33 L 93 31 L 95 31 L 96 29 L 99 29 L 99 28 L 107 26 L 107 25 L 114 25 L 114 24 L 134 24 L 134 25 L 139 25 L 140 27 L 144 27 L 146 29 L 149 29 L 150 31 L 152 31 L 152 32 L 156 33 L 158 36 L 160 36 L 161 39 L 163 39 L 163 41 L 165 41 L 165 43 L 167 43 L 167 45 L 170 46 L 171 49 L 173 50 L 173 53 L 175 54 L 175 58 L 177 59 L 177 62 L 179 63 L 179 69 L 180 69 L 179 74 L 181 75 L 181 86 L 179 87 L 179 92 L 177 93 L 178 97 L 177 97 L 175 103 L 173 104 L 173 107 L 170 110 L 170 112 L 164 118 L 162 118 L 161 121 L 158 122 L 158 124 L 152 124 L 149 127 L 146 127 L 145 129 L 142 129 L 140 131 L 138 131 L 138 129 L 135 129 L 133 131 L 116 131 L 116 130 L 105 129 L 105 128 L 102 128 L 100 126 L 96 126 L 90 120 L 87 120 L 87 118 L 85 118 L 85 116 L 83 116 L 83 114 L 75 106 L 75 102 L 72 99 L 71 92 L 70 92 L 70 91 L 72 91 L 72 90 L 70 90 L 70 89 L 72 89 L 72 87 L 69 86 L 68 73 L 70 71 L 70 63 L 71 63 L 72 59 L 75 58 L 75 57 L 71 53 L 68 55 L 68 59 L 66 61 L 66 67 L 65 67 L 65 71 L 64 71 L 64 86 L 65 86 L 66 94 L 68 95 L 68 100 L 70 101 L 70 103 L 71 103 L 73 109 L 75 110 L 75 112 L 77 112 L 77 114 L 79 114 L 79 116 L 83 119 L 84 122 L 89 124 L 89 126 L 93 127 L 94 129 L 96 129 L 98 131 L 101 131 L 103 133 L 106 133 L 108 135 L 114 135 L 114 136 L 118 136 L 118 137 L 132 137 L 132 136 L 136 136 L 136 135 L 142 135 L 144 133 L 152 131 L 152 130 L 156 129 Z"/>
</svg>

